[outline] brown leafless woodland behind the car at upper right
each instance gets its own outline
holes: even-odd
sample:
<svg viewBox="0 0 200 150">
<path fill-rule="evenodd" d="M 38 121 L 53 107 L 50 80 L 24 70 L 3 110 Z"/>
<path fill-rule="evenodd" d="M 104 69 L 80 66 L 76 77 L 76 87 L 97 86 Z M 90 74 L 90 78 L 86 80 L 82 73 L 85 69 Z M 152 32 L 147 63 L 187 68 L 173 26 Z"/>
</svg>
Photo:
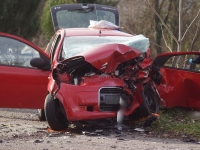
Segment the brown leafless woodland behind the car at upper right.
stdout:
<svg viewBox="0 0 200 150">
<path fill-rule="evenodd" d="M 129 9 L 128 17 L 121 25 L 127 32 L 148 37 L 154 56 L 177 51 L 178 44 L 181 45 L 180 51 L 199 51 L 200 0 L 124 0 L 118 3 L 118 7 L 125 6 Z"/>
</svg>

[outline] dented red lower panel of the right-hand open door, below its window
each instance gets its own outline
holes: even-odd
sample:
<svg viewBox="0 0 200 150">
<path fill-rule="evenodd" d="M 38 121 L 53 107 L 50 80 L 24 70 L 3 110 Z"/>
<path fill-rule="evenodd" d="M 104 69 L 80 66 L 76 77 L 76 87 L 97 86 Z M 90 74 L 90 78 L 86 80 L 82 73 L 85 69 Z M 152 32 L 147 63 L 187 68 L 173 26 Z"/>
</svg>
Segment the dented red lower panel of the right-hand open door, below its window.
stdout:
<svg viewBox="0 0 200 150">
<path fill-rule="evenodd" d="M 170 68 L 165 68 L 162 72 L 167 80 L 157 88 L 160 96 L 166 102 L 166 108 L 182 106 L 200 109 L 200 78 L 197 78 L 199 73 Z"/>
</svg>

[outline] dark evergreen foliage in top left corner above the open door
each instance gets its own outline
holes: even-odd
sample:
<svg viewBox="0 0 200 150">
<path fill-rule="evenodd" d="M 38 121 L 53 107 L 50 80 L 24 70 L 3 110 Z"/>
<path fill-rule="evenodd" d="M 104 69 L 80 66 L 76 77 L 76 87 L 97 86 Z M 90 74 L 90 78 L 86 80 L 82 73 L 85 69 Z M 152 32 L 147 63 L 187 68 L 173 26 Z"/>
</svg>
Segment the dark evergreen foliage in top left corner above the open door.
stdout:
<svg viewBox="0 0 200 150">
<path fill-rule="evenodd" d="M 0 32 L 25 39 L 33 37 L 39 27 L 37 8 L 41 0 L 1 0 Z"/>
</svg>

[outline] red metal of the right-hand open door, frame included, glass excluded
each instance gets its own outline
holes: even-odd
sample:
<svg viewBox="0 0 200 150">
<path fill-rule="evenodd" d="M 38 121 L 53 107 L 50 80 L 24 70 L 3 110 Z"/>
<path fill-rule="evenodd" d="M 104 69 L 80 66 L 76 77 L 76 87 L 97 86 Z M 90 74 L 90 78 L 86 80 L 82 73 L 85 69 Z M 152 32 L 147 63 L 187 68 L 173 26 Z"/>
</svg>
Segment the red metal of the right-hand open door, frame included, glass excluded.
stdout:
<svg viewBox="0 0 200 150">
<path fill-rule="evenodd" d="M 158 93 L 164 100 L 161 106 L 166 108 L 181 106 L 200 110 L 200 72 L 163 66 L 170 56 L 189 54 L 200 55 L 200 52 L 164 53 L 154 60 L 153 65 L 155 65 L 156 62 L 157 64 L 160 62 L 158 66 L 160 67 L 159 72 L 162 75 L 162 80 L 160 84 L 157 85 Z"/>
</svg>

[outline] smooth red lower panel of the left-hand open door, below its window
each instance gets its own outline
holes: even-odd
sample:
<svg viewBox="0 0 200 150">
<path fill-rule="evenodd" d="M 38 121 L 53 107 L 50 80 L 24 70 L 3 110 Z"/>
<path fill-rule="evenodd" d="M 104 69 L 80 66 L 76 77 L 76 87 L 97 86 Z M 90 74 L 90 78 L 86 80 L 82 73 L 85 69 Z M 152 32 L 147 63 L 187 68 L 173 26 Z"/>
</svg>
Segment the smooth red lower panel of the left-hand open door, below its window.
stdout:
<svg viewBox="0 0 200 150">
<path fill-rule="evenodd" d="M 49 71 L 0 66 L 0 107 L 43 109 Z"/>
</svg>

